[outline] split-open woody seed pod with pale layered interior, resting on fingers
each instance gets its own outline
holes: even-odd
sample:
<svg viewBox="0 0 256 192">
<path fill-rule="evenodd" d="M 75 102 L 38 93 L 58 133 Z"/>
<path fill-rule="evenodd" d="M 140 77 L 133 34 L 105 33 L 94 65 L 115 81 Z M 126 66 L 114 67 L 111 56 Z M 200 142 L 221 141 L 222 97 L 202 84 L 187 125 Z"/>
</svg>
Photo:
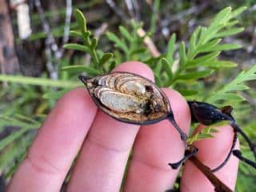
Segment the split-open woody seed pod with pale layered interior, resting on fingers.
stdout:
<svg viewBox="0 0 256 192">
<path fill-rule="evenodd" d="M 138 74 L 114 72 L 79 78 L 96 105 L 119 121 L 144 125 L 159 122 L 170 114 L 173 117 L 166 94 Z"/>
</svg>

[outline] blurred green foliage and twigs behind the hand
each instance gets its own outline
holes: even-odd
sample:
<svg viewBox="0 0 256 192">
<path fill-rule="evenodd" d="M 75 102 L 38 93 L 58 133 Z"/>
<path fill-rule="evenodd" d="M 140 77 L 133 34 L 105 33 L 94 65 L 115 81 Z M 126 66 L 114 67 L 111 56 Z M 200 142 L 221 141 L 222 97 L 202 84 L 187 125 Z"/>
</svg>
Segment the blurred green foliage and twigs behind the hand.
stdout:
<svg viewBox="0 0 256 192">
<path fill-rule="evenodd" d="M 239 125 L 256 141 L 256 85 L 255 81 L 244 84 L 254 80 L 256 72 L 254 0 L 25 3 L 32 30 L 27 38 L 18 35 L 18 5 L 9 4 L 8 9 L 19 70 L 6 72 L 7 64 L 0 60 L 2 182 L 9 182 L 58 98 L 82 86 L 78 74 L 102 74 L 129 60 L 146 62 L 154 70 L 158 86 L 179 90 L 187 99 L 234 106 Z M 234 11 L 223 10 L 227 6 Z M 234 15 L 242 6 L 247 9 Z M 75 22 L 76 8 L 86 16 L 89 43 L 81 35 L 81 23 Z M 220 10 L 224 12 L 214 22 Z M 153 46 L 144 43 L 148 37 Z M 221 42 L 219 38 L 223 38 Z M 63 49 L 64 44 L 67 49 Z M 242 70 L 247 72 L 238 76 Z M 253 159 L 243 140 L 241 148 L 247 158 Z M 255 170 L 240 163 L 236 191 L 256 191 L 255 180 Z"/>
</svg>

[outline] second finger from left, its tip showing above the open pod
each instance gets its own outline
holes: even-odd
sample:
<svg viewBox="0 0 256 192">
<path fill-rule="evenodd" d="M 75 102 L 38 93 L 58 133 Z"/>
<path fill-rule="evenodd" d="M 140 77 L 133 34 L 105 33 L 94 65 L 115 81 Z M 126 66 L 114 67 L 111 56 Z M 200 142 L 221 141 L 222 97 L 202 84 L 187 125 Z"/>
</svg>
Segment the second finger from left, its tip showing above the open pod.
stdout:
<svg viewBox="0 0 256 192">
<path fill-rule="evenodd" d="M 126 62 L 116 70 L 133 72 L 154 79 L 152 71 L 140 62 Z M 139 126 L 118 122 L 98 111 L 68 191 L 118 191 Z"/>
</svg>

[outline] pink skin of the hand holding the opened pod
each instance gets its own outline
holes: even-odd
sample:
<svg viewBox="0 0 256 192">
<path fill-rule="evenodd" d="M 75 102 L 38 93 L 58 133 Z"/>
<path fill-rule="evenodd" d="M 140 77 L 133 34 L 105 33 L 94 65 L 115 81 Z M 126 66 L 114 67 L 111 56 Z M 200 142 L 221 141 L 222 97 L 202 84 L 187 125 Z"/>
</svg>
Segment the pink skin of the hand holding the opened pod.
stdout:
<svg viewBox="0 0 256 192">
<path fill-rule="evenodd" d="M 141 62 L 122 63 L 115 71 L 140 74 L 154 81 L 152 71 Z M 178 125 L 188 133 L 190 110 L 185 98 L 175 90 L 163 90 Z M 207 166 L 217 166 L 230 150 L 231 127 L 218 130 L 216 138 L 196 142 L 198 158 Z M 172 188 L 178 170 L 172 170 L 167 163 L 182 158 L 184 143 L 170 122 L 164 120 L 141 127 L 118 122 L 97 110 L 85 88 L 70 90 L 46 118 L 7 191 L 59 191 L 79 150 L 66 191 L 119 191 L 132 146 L 124 191 Z M 234 190 L 237 173 L 238 159 L 232 157 L 216 174 Z M 214 188 L 188 161 L 181 191 L 214 191 Z"/>
</svg>

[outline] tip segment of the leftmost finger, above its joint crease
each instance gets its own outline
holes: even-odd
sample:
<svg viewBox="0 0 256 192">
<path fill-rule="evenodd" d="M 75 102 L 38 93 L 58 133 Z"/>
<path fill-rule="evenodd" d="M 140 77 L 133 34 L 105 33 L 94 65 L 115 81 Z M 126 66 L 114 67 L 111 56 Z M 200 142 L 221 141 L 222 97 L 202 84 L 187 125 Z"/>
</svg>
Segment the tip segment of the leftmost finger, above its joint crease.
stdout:
<svg viewBox="0 0 256 192">
<path fill-rule="evenodd" d="M 86 137 L 96 112 L 97 106 L 85 89 L 68 91 L 58 100 L 39 129 L 30 154 L 42 153 L 46 149 L 54 154 L 51 158 L 54 158 L 55 154 L 75 154 Z"/>
</svg>

